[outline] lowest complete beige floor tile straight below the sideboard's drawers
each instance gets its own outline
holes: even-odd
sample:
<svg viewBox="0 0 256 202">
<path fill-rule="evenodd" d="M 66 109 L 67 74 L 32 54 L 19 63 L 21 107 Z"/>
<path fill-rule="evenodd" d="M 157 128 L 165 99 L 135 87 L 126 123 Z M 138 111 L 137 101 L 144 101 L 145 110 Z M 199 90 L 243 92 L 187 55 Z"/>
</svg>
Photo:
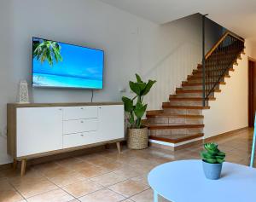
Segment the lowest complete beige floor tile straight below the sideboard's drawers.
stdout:
<svg viewBox="0 0 256 202">
<path fill-rule="evenodd" d="M 82 182 L 77 182 L 64 187 L 68 193 L 72 194 L 74 197 L 79 198 L 88 193 L 96 192 L 103 187 L 96 182 L 92 182 L 90 180 L 85 180 Z"/>
</svg>

